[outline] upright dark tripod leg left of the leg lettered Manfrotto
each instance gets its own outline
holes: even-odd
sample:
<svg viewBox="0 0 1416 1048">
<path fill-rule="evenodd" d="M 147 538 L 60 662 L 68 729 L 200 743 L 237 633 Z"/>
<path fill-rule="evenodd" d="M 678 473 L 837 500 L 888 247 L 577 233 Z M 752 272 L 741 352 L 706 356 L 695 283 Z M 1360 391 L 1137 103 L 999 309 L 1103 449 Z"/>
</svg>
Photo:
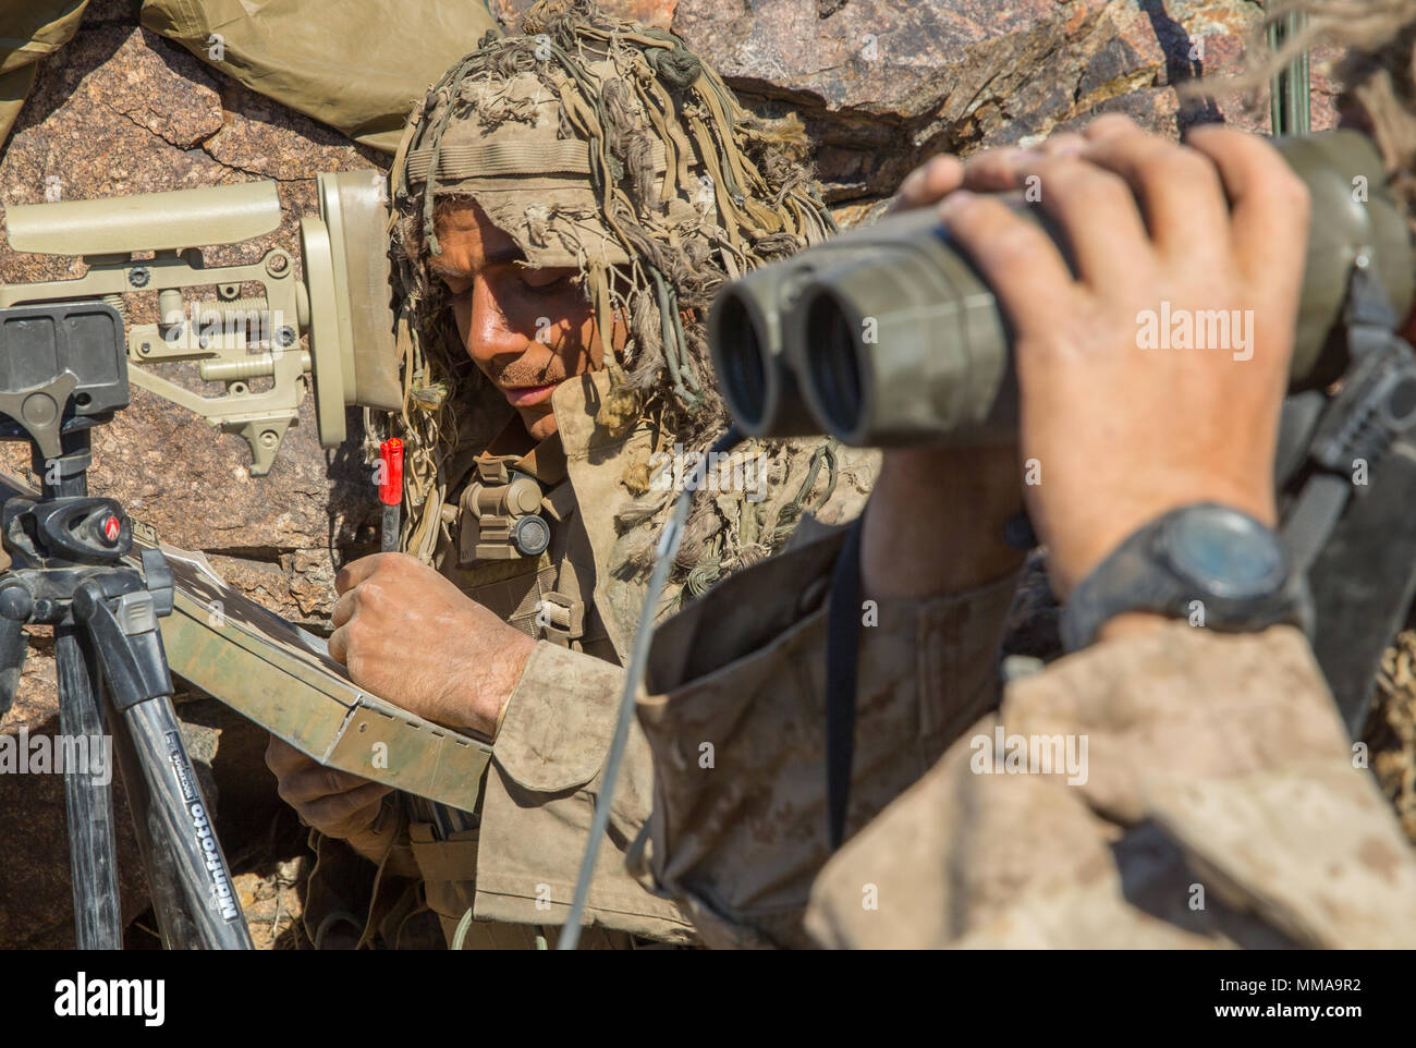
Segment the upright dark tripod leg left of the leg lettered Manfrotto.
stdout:
<svg viewBox="0 0 1416 1048">
<path fill-rule="evenodd" d="M 67 738 L 103 734 L 93 673 L 85 642 L 74 626 L 54 627 L 59 683 L 59 731 Z M 81 950 L 122 949 L 118 908 L 118 861 L 113 848 L 113 794 L 88 769 L 64 769 L 69 819 L 69 868 L 74 874 L 74 923 Z"/>
</svg>

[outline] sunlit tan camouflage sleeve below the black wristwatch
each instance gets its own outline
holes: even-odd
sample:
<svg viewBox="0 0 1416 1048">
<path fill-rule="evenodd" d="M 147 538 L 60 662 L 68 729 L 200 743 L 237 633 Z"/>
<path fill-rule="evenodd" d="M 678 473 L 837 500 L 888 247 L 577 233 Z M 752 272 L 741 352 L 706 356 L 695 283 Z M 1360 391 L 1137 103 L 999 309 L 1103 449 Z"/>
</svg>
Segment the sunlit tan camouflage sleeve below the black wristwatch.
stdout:
<svg viewBox="0 0 1416 1048">
<path fill-rule="evenodd" d="M 831 860 L 807 929 L 848 947 L 1412 947 L 1416 853 L 1361 756 L 1293 627 L 1106 642 L 1011 683 Z"/>
</svg>

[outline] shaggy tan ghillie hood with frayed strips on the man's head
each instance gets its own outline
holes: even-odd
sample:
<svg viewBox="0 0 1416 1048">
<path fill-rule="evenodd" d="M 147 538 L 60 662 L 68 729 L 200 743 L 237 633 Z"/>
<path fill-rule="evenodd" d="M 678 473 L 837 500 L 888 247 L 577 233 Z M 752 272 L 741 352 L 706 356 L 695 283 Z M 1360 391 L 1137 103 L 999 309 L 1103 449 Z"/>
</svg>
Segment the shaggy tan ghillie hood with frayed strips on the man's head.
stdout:
<svg viewBox="0 0 1416 1048">
<path fill-rule="evenodd" d="M 476 200 L 527 265 L 579 269 L 615 378 L 599 421 L 656 415 L 690 448 L 726 425 L 704 317 L 724 279 L 826 239 L 835 224 L 796 116 L 746 113 L 673 34 L 589 0 L 542 0 L 518 35 L 489 33 L 428 92 L 391 171 L 394 309 L 405 364 L 404 548 L 428 559 L 443 465 L 497 408 L 456 337 L 435 211 Z M 629 320 L 620 353 L 613 316 Z M 500 401 L 500 397 L 494 398 Z"/>
</svg>

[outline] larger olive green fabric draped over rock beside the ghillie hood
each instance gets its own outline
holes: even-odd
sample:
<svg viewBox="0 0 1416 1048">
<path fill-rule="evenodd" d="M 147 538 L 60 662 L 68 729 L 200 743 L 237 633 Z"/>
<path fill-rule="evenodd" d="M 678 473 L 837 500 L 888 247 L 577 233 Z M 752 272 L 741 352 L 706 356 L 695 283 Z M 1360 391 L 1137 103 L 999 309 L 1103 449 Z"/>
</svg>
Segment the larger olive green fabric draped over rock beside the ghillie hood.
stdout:
<svg viewBox="0 0 1416 1048">
<path fill-rule="evenodd" d="M 483 0 L 146 0 L 142 20 L 252 91 L 385 153 L 438 71 L 500 33 Z"/>
</svg>

